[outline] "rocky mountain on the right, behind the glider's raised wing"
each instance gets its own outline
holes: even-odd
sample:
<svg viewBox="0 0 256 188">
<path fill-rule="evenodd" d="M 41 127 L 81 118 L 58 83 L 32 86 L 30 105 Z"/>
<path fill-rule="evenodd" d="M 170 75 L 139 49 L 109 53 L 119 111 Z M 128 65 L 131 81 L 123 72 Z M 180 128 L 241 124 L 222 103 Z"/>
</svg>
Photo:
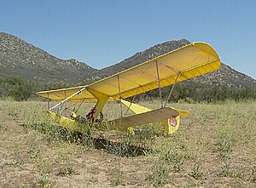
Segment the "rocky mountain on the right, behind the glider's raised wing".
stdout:
<svg viewBox="0 0 256 188">
<path fill-rule="evenodd" d="M 152 60 L 161 54 L 166 54 L 174 49 L 180 48 L 190 42 L 186 39 L 181 39 L 177 41 L 170 41 L 166 43 L 160 43 L 148 48 L 142 52 L 132 55 L 118 64 L 104 68 L 96 73 L 98 78 L 108 77 L 113 73 L 123 71 L 131 66 L 136 66 L 147 60 Z M 207 75 L 202 75 L 201 77 L 195 77 L 186 81 L 186 83 L 202 83 L 207 85 L 224 85 L 230 88 L 256 88 L 256 80 L 252 77 L 232 69 L 230 66 L 226 66 L 222 63 L 222 66 L 218 71 L 213 71 Z"/>
</svg>

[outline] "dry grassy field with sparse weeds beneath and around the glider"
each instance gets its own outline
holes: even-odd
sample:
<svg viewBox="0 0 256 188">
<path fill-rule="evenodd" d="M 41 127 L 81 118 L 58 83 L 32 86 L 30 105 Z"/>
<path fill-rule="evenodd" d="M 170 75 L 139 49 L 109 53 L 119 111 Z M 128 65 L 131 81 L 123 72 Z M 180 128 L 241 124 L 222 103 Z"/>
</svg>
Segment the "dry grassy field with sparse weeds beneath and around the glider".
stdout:
<svg viewBox="0 0 256 188">
<path fill-rule="evenodd" d="M 191 112 L 176 134 L 149 125 L 137 135 L 93 130 L 93 139 L 59 128 L 45 103 L 0 101 L 1 187 L 256 186 L 255 101 L 173 105 Z"/>
</svg>

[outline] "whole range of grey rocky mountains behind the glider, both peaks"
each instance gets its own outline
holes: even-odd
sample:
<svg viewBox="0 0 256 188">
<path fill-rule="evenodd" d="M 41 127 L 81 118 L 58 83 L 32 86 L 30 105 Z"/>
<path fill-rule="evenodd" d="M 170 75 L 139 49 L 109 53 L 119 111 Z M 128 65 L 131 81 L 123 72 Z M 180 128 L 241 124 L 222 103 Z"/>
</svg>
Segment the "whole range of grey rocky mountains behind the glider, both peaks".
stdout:
<svg viewBox="0 0 256 188">
<path fill-rule="evenodd" d="M 160 43 L 132 55 L 118 64 L 96 70 L 77 60 L 61 60 L 18 37 L 0 33 L 0 76 L 20 76 L 41 82 L 90 83 L 108 77 L 146 60 L 166 54 L 190 42 L 186 39 Z M 222 64 L 218 71 L 195 77 L 187 83 L 221 84 L 232 88 L 256 88 L 256 81 L 230 66 Z"/>
</svg>

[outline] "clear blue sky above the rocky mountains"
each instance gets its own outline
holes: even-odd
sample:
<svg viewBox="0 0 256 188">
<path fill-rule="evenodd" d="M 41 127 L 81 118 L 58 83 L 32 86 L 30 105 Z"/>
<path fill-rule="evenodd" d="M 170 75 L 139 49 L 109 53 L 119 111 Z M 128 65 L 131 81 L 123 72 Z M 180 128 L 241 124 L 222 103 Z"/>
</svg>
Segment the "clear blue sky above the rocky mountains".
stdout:
<svg viewBox="0 0 256 188">
<path fill-rule="evenodd" d="M 101 69 L 157 43 L 186 38 L 215 48 L 256 79 L 254 0 L 1 0 L 0 31 Z"/>
</svg>

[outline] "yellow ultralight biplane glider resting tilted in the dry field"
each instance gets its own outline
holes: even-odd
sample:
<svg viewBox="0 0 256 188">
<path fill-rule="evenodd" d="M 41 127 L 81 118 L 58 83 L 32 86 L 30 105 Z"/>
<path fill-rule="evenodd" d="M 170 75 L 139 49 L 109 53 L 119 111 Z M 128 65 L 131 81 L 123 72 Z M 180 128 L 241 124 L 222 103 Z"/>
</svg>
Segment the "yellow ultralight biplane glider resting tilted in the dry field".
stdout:
<svg viewBox="0 0 256 188">
<path fill-rule="evenodd" d="M 218 70 L 220 64 L 218 54 L 209 44 L 190 43 L 95 83 L 74 88 L 42 91 L 37 94 L 50 100 L 60 101 L 49 107 L 49 116 L 65 128 L 73 128 L 82 132 L 83 126 L 75 122 L 84 125 L 98 122 L 102 117 L 104 105 L 108 101 L 116 100 L 128 106 L 136 115 L 124 117 L 120 105 L 121 118 L 109 121 L 113 129 L 124 130 L 148 122 L 165 122 L 164 124 L 167 122 L 166 134 L 172 134 L 179 126 L 179 117 L 189 115 L 188 111 L 166 107 L 175 84 Z M 172 89 L 164 104 L 161 88 L 169 85 L 172 85 Z M 155 88 L 160 91 L 160 109 L 151 111 L 143 106 L 129 104 L 122 100 Z M 64 117 L 61 114 L 61 111 L 64 110 L 61 108 L 67 102 L 96 103 L 96 105 L 86 117 L 77 116 L 75 112 L 71 117 Z"/>
</svg>

